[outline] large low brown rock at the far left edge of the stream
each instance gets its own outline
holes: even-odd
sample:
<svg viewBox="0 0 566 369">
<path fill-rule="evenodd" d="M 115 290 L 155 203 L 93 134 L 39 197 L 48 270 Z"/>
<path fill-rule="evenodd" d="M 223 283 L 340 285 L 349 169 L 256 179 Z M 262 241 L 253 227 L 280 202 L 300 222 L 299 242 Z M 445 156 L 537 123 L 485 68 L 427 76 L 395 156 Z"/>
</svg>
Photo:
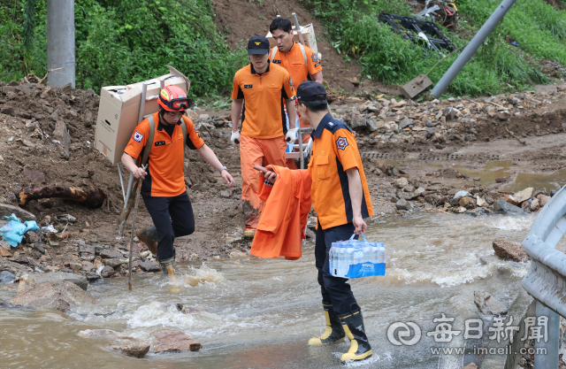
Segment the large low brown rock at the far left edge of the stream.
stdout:
<svg viewBox="0 0 566 369">
<path fill-rule="evenodd" d="M 26 287 L 10 303 L 68 311 L 73 305 L 96 304 L 96 298 L 71 282 L 56 281 Z"/>
</svg>

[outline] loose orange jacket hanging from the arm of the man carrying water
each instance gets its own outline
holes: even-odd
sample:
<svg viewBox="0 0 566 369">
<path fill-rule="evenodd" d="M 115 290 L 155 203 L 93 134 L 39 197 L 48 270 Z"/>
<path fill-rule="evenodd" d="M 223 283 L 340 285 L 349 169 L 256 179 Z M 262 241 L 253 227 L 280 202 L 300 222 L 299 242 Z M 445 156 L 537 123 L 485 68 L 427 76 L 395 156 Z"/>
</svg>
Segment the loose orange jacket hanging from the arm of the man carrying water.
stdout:
<svg viewBox="0 0 566 369">
<path fill-rule="evenodd" d="M 279 178 L 273 186 L 260 174 L 257 195 L 264 211 L 257 225 L 250 254 L 258 258 L 301 258 L 301 243 L 310 211 L 310 173 L 273 165 Z"/>
</svg>

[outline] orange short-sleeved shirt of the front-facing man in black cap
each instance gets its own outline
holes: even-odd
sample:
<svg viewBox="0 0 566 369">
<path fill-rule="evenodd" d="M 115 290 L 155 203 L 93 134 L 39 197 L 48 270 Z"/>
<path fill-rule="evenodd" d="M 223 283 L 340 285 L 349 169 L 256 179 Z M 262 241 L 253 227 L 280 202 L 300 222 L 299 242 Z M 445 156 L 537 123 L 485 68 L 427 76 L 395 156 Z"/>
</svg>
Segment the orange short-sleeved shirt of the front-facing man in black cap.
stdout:
<svg viewBox="0 0 566 369">
<path fill-rule="evenodd" d="M 256 73 L 253 65 L 246 65 L 233 78 L 232 98 L 244 99 L 244 119 L 241 135 L 270 139 L 284 135 L 286 126 L 283 101 L 294 99 L 294 86 L 289 73 L 279 65 L 267 66 Z"/>
</svg>

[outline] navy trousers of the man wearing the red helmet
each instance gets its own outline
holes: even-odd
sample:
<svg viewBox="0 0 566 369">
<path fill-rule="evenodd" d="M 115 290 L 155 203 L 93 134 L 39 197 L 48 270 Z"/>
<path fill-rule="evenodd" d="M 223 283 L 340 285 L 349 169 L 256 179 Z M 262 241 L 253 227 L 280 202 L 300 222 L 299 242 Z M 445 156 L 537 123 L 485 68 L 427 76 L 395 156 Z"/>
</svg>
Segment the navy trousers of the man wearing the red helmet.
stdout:
<svg viewBox="0 0 566 369">
<path fill-rule="evenodd" d="M 173 242 L 175 237 L 195 232 L 195 215 L 187 192 L 173 197 L 144 196 L 143 202 L 148 209 L 153 224 L 157 229 L 157 254 L 160 261 L 175 257 Z"/>
</svg>

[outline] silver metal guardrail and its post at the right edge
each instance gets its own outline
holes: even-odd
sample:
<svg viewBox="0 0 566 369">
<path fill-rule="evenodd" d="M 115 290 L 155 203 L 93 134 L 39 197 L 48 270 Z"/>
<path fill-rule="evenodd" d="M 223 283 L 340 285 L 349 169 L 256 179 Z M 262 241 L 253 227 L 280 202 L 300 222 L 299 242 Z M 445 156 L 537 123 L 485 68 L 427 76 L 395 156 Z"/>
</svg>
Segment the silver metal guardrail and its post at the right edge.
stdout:
<svg viewBox="0 0 566 369">
<path fill-rule="evenodd" d="M 558 367 L 559 314 L 566 317 L 566 255 L 555 250 L 555 246 L 566 232 L 564 188 L 539 212 L 521 244 L 531 258 L 529 273 L 521 285 L 537 300 L 537 322 L 539 318 L 547 317 L 547 335 L 535 342 L 535 369 Z M 545 350 L 546 355 L 543 355 Z M 537 355 L 537 352 L 541 354 Z"/>
</svg>

